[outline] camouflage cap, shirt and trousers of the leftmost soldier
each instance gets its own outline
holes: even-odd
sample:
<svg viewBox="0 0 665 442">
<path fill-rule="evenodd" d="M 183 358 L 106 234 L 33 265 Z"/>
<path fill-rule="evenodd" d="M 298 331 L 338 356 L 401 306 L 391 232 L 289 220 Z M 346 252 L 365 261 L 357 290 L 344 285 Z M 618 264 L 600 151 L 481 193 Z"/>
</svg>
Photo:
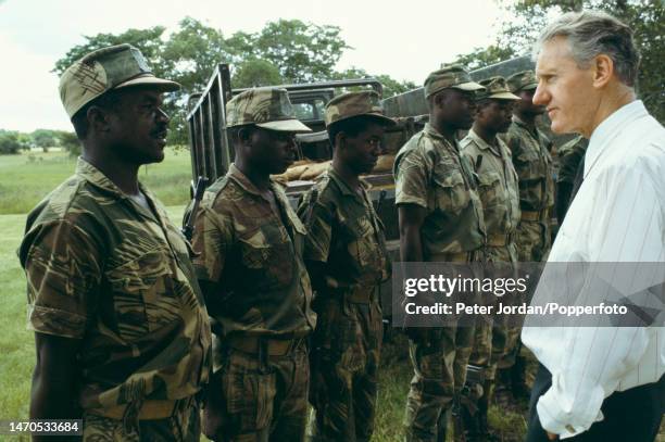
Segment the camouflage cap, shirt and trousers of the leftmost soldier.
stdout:
<svg viewBox="0 0 665 442">
<path fill-rule="evenodd" d="M 129 45 L 86 54 L 59 89 L 73 117 L 134 85 L 179 89 L 156 78 Z M 211 368 L 208 313 L 187 241 L 159 201 L 139 190 L 150 209 L 79 159 L 76 174 L 30 212 L 18 250 L 28 328 L 80 340 L 72 401 L 85 440 L 198 441 L 197 393 Z"/>
</svg>

